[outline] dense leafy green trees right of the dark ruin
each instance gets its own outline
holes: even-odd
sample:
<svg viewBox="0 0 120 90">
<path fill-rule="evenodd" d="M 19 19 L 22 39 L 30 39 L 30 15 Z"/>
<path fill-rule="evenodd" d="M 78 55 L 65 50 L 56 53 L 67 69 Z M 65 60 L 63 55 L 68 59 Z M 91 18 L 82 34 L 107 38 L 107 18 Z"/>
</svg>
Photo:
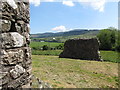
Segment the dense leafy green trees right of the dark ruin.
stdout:
<svg viewBox="0 0 120 90">
<path fill-rule="evenodd" d="M 100 50 L 120 51 L 120 31 L 115 28 L 103 29 L 97 35 L 100 41 Z"/>
</svg>

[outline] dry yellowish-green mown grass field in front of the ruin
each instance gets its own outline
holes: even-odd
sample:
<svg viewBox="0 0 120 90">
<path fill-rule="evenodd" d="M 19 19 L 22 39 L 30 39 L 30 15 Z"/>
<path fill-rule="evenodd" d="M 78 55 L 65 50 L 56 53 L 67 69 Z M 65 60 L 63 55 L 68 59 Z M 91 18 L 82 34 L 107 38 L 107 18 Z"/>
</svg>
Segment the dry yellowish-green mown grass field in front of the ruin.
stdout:
<svg viewBox="0 0 120 90">
<path fill-rule="evenodd" d="M 36 77 L 54 88 L 117 88 L 118 85 L 118 64 L 113 62 L 33 55 L 32 68 Z"/>
</svg>

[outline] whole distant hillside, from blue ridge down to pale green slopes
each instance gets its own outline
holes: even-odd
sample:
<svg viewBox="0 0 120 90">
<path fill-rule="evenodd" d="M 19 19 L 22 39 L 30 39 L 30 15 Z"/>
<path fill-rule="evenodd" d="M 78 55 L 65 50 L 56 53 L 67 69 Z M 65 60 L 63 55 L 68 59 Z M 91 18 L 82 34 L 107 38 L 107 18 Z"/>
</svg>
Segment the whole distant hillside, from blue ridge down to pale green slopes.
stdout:
<svg viewBox="0 0 120 90">
<path fill-rule="evenodd" d="M 98 33 L 99 30 L 76 29 L 67 32 L 31 34 L 31 39 L 34 41 L 53 41 L 53 38 L 55 38 L 57 42 L 64 42 L 65 40 L 70 38 L 81 38 L 83 36 L 94 37 Z"/>
</svg>

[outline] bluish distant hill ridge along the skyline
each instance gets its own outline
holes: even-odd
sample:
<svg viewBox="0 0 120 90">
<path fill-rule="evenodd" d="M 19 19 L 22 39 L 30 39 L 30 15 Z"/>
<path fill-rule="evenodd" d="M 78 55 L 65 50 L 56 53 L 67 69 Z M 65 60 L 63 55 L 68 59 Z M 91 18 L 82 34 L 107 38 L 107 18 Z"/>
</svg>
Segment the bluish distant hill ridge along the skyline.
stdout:
<svg viewBox="0 0 120 90">
<path fill-rule="evenodd" d="M 58 37 L 58 36 L 72 36 L 72 35 L 83 35 L 83 34 L 98 34 L 98 29 L 88 30 L 88 29 L 74 29 L 67 32 L 58 32 L 58 33 L 40 33 L 40 34 L 31 34 L 32 38 L 47 38 L 47 37 Z"/>
</svg>

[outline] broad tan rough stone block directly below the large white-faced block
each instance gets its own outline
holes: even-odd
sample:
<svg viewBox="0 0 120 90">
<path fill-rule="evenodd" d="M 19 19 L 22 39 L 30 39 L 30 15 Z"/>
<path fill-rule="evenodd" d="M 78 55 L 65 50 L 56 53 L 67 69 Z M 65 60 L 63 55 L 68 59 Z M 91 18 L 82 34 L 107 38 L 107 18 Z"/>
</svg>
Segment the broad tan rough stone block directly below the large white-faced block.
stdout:
<svg viewBox="0 0 120 90">
<path fill-rule="evenodd" d="M 21 48 L 1 50 L 1 64 L 15 65 L 24 60 L 24 52 Z"/>
</svg>

